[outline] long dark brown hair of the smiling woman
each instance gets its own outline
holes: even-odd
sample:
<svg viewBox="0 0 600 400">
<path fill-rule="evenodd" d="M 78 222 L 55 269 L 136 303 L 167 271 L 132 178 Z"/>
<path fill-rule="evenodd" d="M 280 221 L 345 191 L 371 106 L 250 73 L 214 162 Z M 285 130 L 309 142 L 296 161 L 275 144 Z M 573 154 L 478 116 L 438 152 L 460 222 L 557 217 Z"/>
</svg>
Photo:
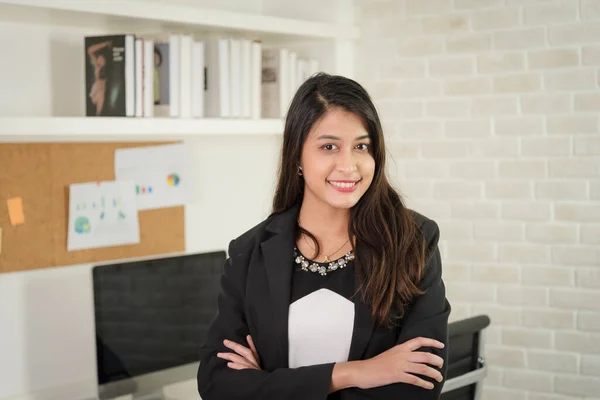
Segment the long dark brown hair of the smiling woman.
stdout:
<svg viewBox="0 0 600 400">
<path fill-rule="evenodd" d="M 350 210 L 348 235 L 355 238 L 355 267 L 359 290 L 373 311 L 375 321 L 395 325 L 409 303 L 422 292 L 419 281 L 425 263 L 423 235 L 400 195 L 390 185 L 385 170 L 386 149 L 381 122 L 366 90 L 352 79 L 320 73 L 296 92 L 285 120 L 273 214 L 287 211 L 304 196 L 304 180 L 298 175 L 302 147 L 313 124 L 332 107 L 359 116 L 371 139 L 375 160 L 373 182 Z M 308 235 L 319 253 L 319 243 Z"/>
</svg>

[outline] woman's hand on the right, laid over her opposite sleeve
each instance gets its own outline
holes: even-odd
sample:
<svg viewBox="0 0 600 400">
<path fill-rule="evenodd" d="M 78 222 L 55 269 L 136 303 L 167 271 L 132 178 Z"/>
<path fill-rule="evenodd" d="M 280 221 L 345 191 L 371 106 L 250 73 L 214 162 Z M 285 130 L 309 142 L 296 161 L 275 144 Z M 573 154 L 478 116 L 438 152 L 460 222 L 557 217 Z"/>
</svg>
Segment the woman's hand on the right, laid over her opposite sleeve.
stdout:
<svg viewBox="0 0 600 400">
<path fill-rule="evenodd" d="M 408 383 L 425 389 L 433 389 L 433 384 L 414 374 L 423 375 L 441 382 L 442 374 L 429 365 L 441 368 L 444 360 L 428 352 L 417 352 L 421 347 L 441 349 L 444 344 L 434 339 L 418 337 L 392 347 L 383 353 L 361 361 L 360 372 L 356 374 L 356 386 L 370 389 L 392 383 Z"/>
</svg>

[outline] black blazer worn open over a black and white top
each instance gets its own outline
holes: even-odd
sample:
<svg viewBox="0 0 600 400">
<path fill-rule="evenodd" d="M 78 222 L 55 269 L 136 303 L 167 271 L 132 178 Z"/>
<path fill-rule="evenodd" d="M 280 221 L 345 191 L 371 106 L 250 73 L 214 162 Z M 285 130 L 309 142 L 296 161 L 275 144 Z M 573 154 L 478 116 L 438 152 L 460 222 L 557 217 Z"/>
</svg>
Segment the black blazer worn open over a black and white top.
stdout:
<svg viewBox="0 0 600 400">
<path fill-rule="evenodd" d="M 269 217 L 229 244 L 221 278 L 218 314 L 201 348 L 198 391 L 203 400 L 320 400 L 320 399 L 438 399 L 442 383 L 432 390 L 398 383 L 373 389 L 348 388 L 329 395 L 334 363 L 288 368 L 288 307 L 290 305 L 294 230 L 299 212 L 294 207 Z M 372 358 L 396 344 L 418 337 L 447 341 L 450 304 L 442 282 L 437 224 L 414 212 L 427 241 L 428 261 L 418 297 L 398 328 L 375 327 L 369 306 L 355 296 L 355 320 L 349 361 Z M 288 262 L 289 260 L 289 262 Z M 289 267 L 288 267 L 289 264 Z M 224 339 L 246 344 L 250 334 L 262 371 L 233 370 L 216 356 L 231 352 Z M 447 360 L 443 350 L 429 350 Z M 442 368 L 446 377 L 446 363 Z"/>
</svg>

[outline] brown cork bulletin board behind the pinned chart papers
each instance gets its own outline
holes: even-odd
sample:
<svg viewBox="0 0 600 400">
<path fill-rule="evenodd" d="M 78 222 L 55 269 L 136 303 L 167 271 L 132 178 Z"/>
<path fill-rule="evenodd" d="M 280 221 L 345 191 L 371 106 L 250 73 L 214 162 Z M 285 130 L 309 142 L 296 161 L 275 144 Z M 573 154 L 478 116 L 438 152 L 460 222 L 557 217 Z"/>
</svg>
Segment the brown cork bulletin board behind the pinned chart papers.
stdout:
<svg viewBox="0 0 600 400">
<path fill-rule="evenodd" d="M 139 244 L 67 251 L 69 185 L 114 180 L 116 149 L 157 144 L 0 144 L 0 273 L 184 251 L 183 206 L 139 211 Z M 16 226 L 13 197 L 23 200 Z"/>
</svg>

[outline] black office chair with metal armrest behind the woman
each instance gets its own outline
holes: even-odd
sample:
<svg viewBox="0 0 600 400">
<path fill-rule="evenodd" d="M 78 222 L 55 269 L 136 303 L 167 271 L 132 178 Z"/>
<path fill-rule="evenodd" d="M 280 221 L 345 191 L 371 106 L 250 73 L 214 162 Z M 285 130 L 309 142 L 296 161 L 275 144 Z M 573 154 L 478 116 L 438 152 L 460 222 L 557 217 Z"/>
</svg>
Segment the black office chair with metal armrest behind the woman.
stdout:
<svg viewBox="0 0 600 400">
<path fill-rule="evenodd" d="M 451 322 L 448 325 L 448 374 L 440 400 L 480 400 L 487 375 L 483 330 L 490 325 L 487 315 Z"/>
</svg>

